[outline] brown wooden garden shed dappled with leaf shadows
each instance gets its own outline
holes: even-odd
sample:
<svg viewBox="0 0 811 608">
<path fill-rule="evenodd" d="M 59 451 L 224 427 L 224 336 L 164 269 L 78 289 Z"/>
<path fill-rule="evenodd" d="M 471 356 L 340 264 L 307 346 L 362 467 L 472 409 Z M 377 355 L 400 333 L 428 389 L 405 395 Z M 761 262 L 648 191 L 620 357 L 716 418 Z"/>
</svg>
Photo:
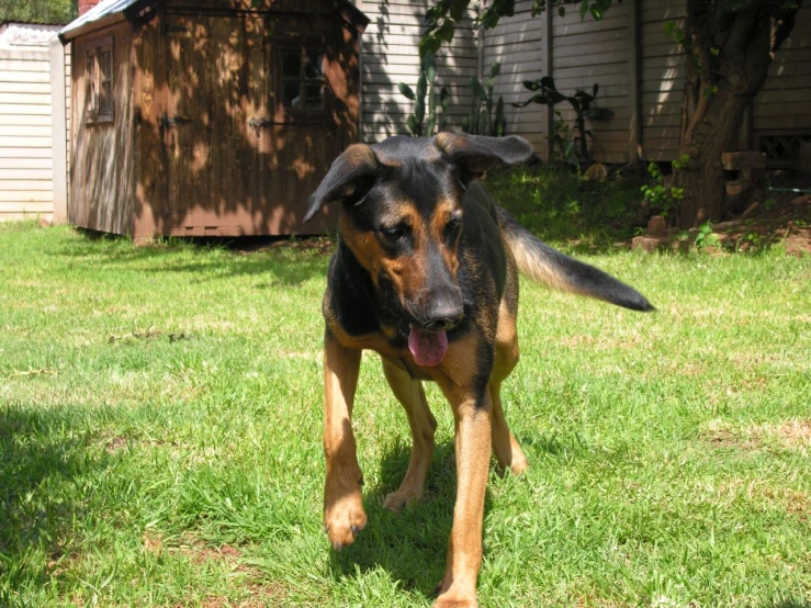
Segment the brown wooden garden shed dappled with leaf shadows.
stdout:
<svg viewBox="0 0 811 608">
<path fill-rule="evenodd" d="M 71 42 L 68 218 L 135 238 L 319 234 L 301 223 L 358 140 L 348 0 L 103 0 Z"/>
</svg>

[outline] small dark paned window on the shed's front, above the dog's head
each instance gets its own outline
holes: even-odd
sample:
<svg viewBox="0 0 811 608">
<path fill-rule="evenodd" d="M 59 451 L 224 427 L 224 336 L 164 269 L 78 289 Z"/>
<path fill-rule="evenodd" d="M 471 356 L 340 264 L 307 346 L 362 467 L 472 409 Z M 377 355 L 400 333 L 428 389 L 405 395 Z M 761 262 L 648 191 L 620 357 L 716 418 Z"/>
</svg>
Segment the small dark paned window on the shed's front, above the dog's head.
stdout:
<svg viewBox="0 0 811 608">
<path fill-rule="evenodd" d="M 324 52 L 282 49 L 282 105 L 285 110 L 322 112 L 324 105 Z"/>
</svg>

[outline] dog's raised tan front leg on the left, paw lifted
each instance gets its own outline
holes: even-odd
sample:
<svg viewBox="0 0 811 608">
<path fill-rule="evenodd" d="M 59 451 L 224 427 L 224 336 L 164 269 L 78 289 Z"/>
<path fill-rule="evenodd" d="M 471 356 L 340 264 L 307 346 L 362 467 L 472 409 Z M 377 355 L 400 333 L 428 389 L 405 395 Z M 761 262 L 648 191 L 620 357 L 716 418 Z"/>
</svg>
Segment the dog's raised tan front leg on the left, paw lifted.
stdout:
<svg viewBox="0 0 811 608">
<path fill-rule="evenodd" d="M 354 541 L 367 525 L 361 502 L 363 477 L 352 432 L 352 403 L 360 371 L 359 349 L 341 346 L 327 330 L 324 338 L 324 527 L 336 551 Z"/>
</svg>

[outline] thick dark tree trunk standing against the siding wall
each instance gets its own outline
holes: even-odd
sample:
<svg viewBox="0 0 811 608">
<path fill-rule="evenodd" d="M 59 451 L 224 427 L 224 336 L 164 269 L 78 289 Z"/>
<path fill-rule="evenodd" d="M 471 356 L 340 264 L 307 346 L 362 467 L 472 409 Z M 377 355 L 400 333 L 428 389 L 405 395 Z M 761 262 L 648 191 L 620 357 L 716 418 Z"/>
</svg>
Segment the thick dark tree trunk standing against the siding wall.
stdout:
<svg viewBox="0 0 811 608">
<path fill-rule="evenodd" d="M 774 53 L 788 37 L 802 0 L 687 0 L 679 158 L 683 228 L 724 216 L 721 154 L 737 149 L 746 106 L 766 83 Z"/>
</svg>

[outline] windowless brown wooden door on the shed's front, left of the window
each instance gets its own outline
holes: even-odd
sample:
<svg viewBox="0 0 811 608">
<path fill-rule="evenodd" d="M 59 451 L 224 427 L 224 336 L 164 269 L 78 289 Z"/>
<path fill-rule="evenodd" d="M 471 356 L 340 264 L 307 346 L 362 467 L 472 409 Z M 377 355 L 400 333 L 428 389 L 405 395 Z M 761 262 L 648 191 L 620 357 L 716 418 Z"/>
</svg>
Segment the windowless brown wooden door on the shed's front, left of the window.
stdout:
<svg viewBox="0 0 811 608">
<path fill-rule="evenodd" d="M 263 30 L 250 16 L 168 14 L 167 100 L 160 116 L 173 234 L 261 234 L 259 136 Z"/>
</svg>

